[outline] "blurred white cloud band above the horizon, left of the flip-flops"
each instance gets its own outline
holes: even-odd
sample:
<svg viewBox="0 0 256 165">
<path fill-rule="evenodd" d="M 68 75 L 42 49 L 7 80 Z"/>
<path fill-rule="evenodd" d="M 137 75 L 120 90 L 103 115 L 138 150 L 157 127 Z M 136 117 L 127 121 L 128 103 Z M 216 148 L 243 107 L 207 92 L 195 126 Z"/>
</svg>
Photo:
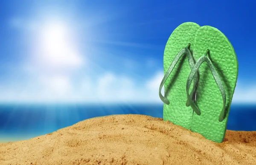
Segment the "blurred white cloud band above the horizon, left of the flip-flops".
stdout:
<svg viewBox="0 0 256 165">
<path fill-rule="evenodd" d="M 96 80 L 86 77 L 74 82 L 65 76 L 40 77 L 27 88 L 2 88 L 2 102 L 161 102 L 158 88 L 162 76 L 160 72 L 150 80 L 137 85 L 130 77 L 111 72 Z M 32 88 L 35 85 L 36 88 Z"/>
</svg>

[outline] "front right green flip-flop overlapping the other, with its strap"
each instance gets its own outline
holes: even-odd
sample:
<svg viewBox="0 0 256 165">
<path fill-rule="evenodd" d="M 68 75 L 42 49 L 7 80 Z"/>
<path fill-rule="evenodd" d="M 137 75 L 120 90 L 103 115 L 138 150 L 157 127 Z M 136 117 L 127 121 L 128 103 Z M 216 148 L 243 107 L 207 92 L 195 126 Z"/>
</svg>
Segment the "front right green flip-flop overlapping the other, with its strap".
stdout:
<svg viewBox="0 0 256 165">
<path fill-rule="evenodd" d="M 214 142 L 223 142 L 238 77 L 236 53 L 227 37 L 211 26 L 200 27 L 193 44 L 193 57 L 197 62 L 186 84 L 187 98 L 195 111 L 191 131 Z M 198 71 L 194 101 L 189 89 Z"/>
</svg>

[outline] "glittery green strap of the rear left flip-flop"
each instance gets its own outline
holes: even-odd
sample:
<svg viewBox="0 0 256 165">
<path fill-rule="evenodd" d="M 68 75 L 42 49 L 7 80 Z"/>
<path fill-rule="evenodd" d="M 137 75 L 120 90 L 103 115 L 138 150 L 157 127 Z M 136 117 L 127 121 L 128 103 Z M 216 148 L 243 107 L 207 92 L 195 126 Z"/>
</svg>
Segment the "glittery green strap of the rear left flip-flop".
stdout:
<svg viewBox="0 0 256 165">
<path fill-rule="evenodd" d="M 189 65 L 190 65 L 190 68 L 193 68 L 194 65 L 195 65 L 195 62 L 193 60 L 193 57 L 192 57 L 192 54 L 191 52 L 189 51 L 189 47 L 190 47 L 190 44 L 186 47 L 186 48 L 183 48 L 179 51 L 179 53 L 175 56 L 174 60 L 172 61 L 171 65 L 169 66 L 168 70 L 166 71 L 166 74 L 164 75 L 163 77 L 163 80 L 162 82 L 160 83 L 160 87 L 159 87 L 159 97 L 160 99 L 166 103 L 167 105 L 170 104 L 169 100 L 164 97 L 162 94 L 161 94 L 161 90 L 163 88 L 163 85 L 164 83 L 166 82 L 167 78 L 169 77 L 169 75 L 172 73 L 172 70 L 174 69 L 175 65 L 177 64 L 177 62 L 180 60 L 180 57 L 182 57 L 184 54 L 187 55 L 188 57 L 188 61 L 189 61 Z M 196 84 L 198 82 L 198 74 L 196 73 L 195 74 L 195 77 L 194 77 L 194 85 L 193 85 L 193 90 L 191 91 L 191 94 L 190 94 L 190 97 L 192 97 L 192 95 L 194 94 L 195 92 L 195 87 L 196 87 Z M 187 100 L 186 102 L 186 106 L 189 106 L 190 105 L 190 102 Z"/>
</svg>

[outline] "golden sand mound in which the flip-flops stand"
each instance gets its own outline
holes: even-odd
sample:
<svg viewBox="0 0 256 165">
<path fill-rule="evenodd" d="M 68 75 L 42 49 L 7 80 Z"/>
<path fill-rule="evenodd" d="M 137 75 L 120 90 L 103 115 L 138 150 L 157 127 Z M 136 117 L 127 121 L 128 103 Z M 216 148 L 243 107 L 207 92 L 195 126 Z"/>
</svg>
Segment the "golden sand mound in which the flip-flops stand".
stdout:
<svg viewBox="0 0 256 165">
<path fill-rule="evenodd" d="M 111 115 L 0 143 L 0 165 L 256 165 L 256 131 L 216 143 L 161 118 Z"/>
</svg>

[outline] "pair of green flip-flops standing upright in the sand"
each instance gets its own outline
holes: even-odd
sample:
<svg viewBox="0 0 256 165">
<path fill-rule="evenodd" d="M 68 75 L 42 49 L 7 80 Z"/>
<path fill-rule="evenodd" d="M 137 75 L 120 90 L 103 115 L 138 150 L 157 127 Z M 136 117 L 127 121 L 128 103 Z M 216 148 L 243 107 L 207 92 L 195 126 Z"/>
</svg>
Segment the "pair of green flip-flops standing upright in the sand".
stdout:
<svg viewBox="0 0 256 165">
<path fill-rule="evenodd" d="M 223 142 L 238 76 L 227 37 L 211 26 L 181 24 L 167 41 L 164 74 L 163 120 Z"/>
</svg>

